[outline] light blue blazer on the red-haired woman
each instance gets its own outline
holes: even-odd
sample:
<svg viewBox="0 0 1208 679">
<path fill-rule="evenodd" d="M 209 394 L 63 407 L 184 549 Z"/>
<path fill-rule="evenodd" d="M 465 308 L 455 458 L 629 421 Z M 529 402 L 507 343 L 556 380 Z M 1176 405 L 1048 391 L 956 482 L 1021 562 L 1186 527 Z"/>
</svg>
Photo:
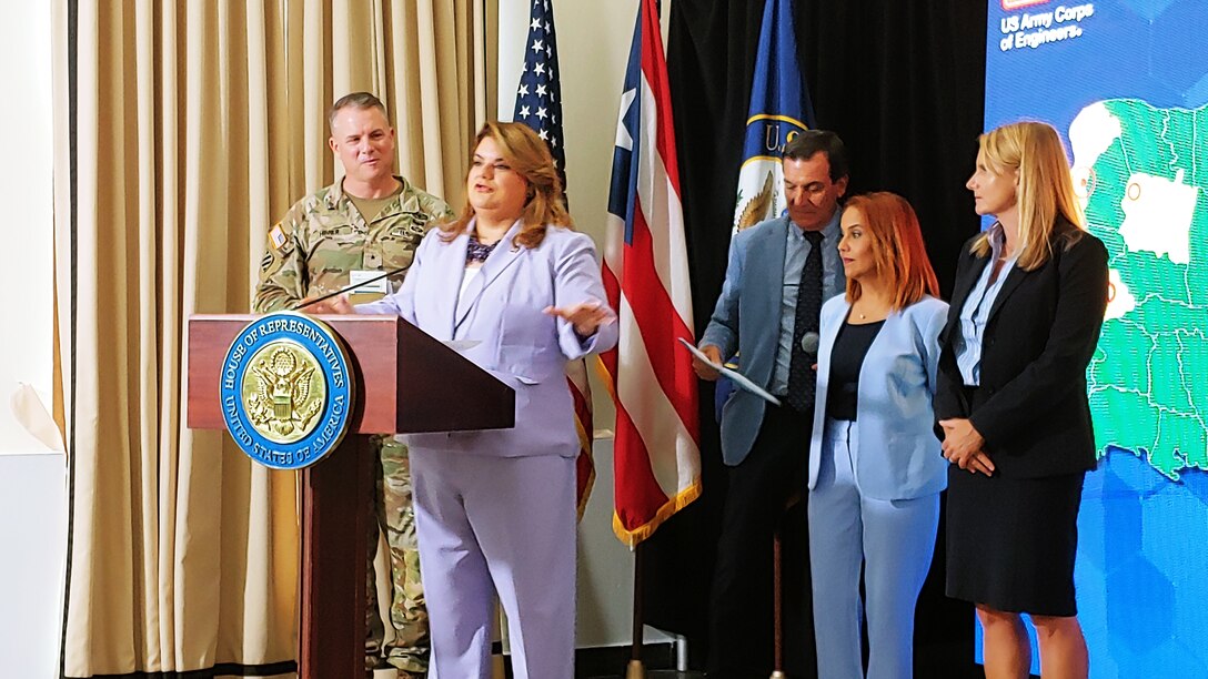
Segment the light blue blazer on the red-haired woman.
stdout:
<svg viewBox="0 0 1208 679">
<path fill-rule="evenodd" d="M 809 441 L 809 489 L 818 483 L 826 390 L 835 337 L 847 319 L 846 296 L 823 304 L 818 347 L 818 397 Z M 935 439 L 931 401 L 940 362 L 940 330 L 948 304 L 923 297 L 890 312 L 869 347 L 856 387 L 855 428 L 860 446 L 855 486 L 877 500 L 908 500 L 939 493 L 948 484 L 948 460 Z"/>
</svg>

